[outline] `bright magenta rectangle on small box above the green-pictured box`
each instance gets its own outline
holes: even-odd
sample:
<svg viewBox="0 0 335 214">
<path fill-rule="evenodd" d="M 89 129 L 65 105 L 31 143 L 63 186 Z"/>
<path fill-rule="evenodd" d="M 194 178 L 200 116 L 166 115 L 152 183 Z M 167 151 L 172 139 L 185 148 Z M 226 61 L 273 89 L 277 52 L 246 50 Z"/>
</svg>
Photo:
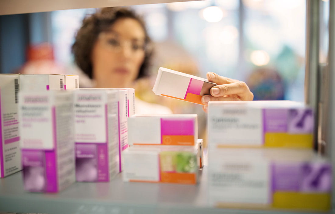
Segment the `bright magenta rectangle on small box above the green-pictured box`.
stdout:
<svg viewBox="0 0 335 214">
<path fill-rule="evenodd" d="M 194 135 L 194 119 L 190 118 L 161 118 L 161 135 Z"/>
</svg>

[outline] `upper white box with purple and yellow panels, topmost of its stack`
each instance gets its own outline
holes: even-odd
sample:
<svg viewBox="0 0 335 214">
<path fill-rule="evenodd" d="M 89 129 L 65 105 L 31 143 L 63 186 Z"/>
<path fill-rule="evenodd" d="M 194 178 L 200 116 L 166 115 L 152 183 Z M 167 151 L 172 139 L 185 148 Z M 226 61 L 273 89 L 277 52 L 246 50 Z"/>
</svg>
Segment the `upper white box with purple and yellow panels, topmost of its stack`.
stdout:
<svg viewBox="0 0 335 214">
<path fill-rule="evenodd" d="M 293 101 L 209 102 L 208 142 L 221 146 L 313 147 L 314 115 Z"/>
</svg>

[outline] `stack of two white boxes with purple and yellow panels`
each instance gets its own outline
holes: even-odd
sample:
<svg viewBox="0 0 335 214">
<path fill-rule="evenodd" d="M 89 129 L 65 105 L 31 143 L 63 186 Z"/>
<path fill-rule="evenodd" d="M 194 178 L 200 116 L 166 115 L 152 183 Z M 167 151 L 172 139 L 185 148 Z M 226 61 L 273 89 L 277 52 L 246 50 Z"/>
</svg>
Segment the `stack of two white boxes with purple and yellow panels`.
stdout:
<svg viewBox="0 0 335 214">
<path fill-rule="evenodd" d="M 208 108 L 211 205 L 329 210 L 331 166 L 312 150 L 311 108 L 292 101 Z"/>
</svg>

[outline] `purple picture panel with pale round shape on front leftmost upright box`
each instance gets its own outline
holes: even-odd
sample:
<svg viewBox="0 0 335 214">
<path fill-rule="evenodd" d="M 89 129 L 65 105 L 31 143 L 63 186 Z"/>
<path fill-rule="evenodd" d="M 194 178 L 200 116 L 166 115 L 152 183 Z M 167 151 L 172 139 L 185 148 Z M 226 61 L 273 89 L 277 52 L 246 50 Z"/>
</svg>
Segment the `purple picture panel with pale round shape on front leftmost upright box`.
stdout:
<svg viewBox="0 0 335 214">
<path fill-rule="evenodd" d="M 45 151 L 22 149 L 23 186 L 26 191 L 45 192 L 47 178 Z"/>
</svg>

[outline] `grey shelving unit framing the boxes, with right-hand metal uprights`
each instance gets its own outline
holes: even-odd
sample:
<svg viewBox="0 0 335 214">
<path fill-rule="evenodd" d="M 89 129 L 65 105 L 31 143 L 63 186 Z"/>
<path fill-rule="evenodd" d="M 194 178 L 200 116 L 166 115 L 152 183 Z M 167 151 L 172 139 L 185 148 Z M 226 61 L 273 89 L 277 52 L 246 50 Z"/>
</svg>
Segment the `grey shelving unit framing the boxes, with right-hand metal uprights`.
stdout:
<svg viewBox="0 0 335 214">
<path fill-rule="evenodd" d="M 168 3 L 178 0 L 1 0 L 0 15 L 44 12 L 62 9 L 125 6 L 151 3 Z M 188 0 L 183 0 L 188 1 Z M 327 156 L 332 160 L 335 169 L 335 2 L 330 0 L 329 23 L 329 65 L 326 68 L 329 78 L 329 88 L 318 85 L 318 26 L 319 14 L 317 1 L 307 0 L 307 18 L 311 22 L 307 26 L 307 51 L 306 54 L 306 92 L 307 96 L 317 106 L 317 97 L 320 91 L 327 91 L 328 109 L 324 112 L 328 115 L 324 131 L 326 133 Z M 321 0 L 320 0 L 321 2 Z M 311 5 L 313 4 L 313 6 Z M 310 10 L 309 10 L 310 9 Z M 314 12 L 313 12 L 314 11 Z M 310 47 L 309 47 L 310 45 Z M 313 46 L 316 45 L 316 46 Z M 311 95 L 312 94 L 312 95 Z M 309 102 L 309 101 L 308 101 Z M 334 170 L 335 171 L 335 170 Z M 200 184 L 197 186 L 124 183 L 121 175 L 110 183 L 75 183 L 58 194 L 28 193 L 23 190 L 22 173 L 16 173 L 7 178 L 0 179 L 0 212 L 39 212 L 49 214 L 137 214 L 137 213 L 206 213 L 206 214 L 281 214 L 302 213 L 282 210 L 238 210 L 216 209 L 207 205 L 207 171 L 203 170 L 200 176 Z M 333 173 L 333 184 L 335 183 Z M 332 208 L 329 213 L 335 213 L 335 185 L 333 185 Z"/>
</svg>

